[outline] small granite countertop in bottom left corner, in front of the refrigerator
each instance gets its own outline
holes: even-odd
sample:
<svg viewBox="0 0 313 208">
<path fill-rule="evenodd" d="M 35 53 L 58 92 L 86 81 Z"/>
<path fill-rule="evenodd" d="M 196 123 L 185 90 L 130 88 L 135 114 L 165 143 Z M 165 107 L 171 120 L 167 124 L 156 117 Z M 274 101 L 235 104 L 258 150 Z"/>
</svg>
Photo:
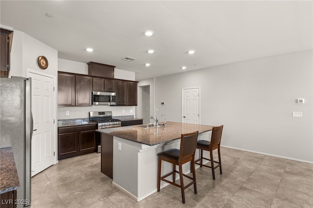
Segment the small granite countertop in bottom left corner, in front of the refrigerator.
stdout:
<svg viewBox="0 0 313 208">
<path fill-rule="evenodd" d="M 20 180 L 12 147 L 0 148 L 0 194 L 16 190 L 19 187 Z"/>
</svg>

